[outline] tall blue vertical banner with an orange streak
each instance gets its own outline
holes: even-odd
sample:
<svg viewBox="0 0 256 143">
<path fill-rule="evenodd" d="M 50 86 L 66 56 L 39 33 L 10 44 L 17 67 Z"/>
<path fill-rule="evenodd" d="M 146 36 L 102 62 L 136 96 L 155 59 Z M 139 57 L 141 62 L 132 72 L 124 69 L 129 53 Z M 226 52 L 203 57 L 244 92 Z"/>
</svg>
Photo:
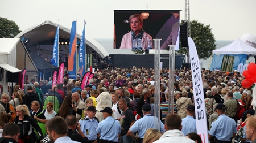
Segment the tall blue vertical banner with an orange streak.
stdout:
<svg viewBox="0 0 256 143">
<path fill-rule="evenodd" d="M 70 33 L 70 45 L 68 54 L 68 75 L 71 79 L 76 79 L 76 21 L 72 22 Z"/>
</svg>

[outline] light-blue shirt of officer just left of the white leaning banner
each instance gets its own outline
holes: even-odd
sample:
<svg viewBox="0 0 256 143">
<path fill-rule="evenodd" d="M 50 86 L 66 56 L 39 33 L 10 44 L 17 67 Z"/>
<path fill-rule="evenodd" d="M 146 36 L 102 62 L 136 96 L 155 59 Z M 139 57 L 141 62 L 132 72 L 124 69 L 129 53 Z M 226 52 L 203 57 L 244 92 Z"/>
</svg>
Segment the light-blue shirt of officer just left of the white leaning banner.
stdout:
<svg viewBox="0 0 256 143">
<path fill-rule="evenodd" d="M 193 116 L 187 115 L 186 118 L 182 119 L 181 125 L 181 132 L 183 132 L 184 135 L 188 135 L 188 133 L 191 132 L 196 133 L 196 119 L 194 119 Z"/>
</svg>

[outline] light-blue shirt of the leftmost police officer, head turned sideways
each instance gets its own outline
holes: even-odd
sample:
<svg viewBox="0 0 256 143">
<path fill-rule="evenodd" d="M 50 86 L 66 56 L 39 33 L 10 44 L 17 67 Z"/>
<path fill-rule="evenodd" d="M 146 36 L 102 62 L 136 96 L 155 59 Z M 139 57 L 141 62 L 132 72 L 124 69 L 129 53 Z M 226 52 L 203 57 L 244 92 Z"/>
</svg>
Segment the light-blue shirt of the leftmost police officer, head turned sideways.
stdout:
<svg viewBox="0 0 256 143">
<path fill-rule="evenodd" d="M 86 120 L 86 118 L 88 120 Z M 88 116 L 86 116 L 86 118 L 82 118 L 79 120 L 79 123 L 81 124 L 81 131 L 84 133 L 89 141 L 95 141 L 97 139 L 96 129 L 98 127 L 98 122 L 94 118 L 89 119 Z"/>
</svg>

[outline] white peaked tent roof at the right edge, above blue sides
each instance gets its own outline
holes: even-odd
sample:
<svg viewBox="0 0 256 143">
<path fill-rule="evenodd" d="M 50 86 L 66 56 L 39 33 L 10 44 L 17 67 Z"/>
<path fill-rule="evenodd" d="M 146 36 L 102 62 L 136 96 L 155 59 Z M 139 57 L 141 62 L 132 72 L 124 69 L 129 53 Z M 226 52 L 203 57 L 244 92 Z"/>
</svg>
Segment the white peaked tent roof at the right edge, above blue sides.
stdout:
<svg viewBox="0 0 256 143">
<path fill-rule="evenodd" d="M 231 44 L 212 51 L 213 54 L 256 54 L 256 49 L 238 38 Z"/>
</svg>

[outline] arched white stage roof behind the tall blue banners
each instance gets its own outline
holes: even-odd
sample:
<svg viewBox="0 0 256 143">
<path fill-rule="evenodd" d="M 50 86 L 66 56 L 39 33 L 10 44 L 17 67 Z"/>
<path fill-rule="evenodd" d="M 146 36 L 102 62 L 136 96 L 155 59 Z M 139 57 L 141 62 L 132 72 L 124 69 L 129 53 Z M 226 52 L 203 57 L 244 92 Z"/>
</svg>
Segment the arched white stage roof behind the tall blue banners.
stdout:
<svg viewBox="0 0 256 143">
<path fill-rule="evenodd" d="M 26 37 L 28 40 L 30 40 L 30 42 L 26 43 L 25 45 L 27 48 L 30 48 L 31 46 L 34 46 L 37 43 L 54 39 L 57 26 L 58 26 L 57 23 L 53 23 L 52 21 L 46 20 L 41 24 L 34 25 L 20 32 L 15 38 L 22 38 L 23 36 Z M 71 30 L 66 27 L 63 27 L 62 25 L 59 25 L 59 29 L 60 29 L 59 38 L 69 39 Z M 77 35 L 77 38 L 81 40 L 80 34 L 76 34 L 76 35 Z M 104 49 L 104 47 L 98 44 L 97 41 L 95 40 L 91 41 L 91 40 L 92 39 L 85 36 L 86 45 L 88 45 L 90 48 L 96 51 L 98 55 L 100 55 L 102 58 L 109 55 L 109 53 Z"/>
</svg>

